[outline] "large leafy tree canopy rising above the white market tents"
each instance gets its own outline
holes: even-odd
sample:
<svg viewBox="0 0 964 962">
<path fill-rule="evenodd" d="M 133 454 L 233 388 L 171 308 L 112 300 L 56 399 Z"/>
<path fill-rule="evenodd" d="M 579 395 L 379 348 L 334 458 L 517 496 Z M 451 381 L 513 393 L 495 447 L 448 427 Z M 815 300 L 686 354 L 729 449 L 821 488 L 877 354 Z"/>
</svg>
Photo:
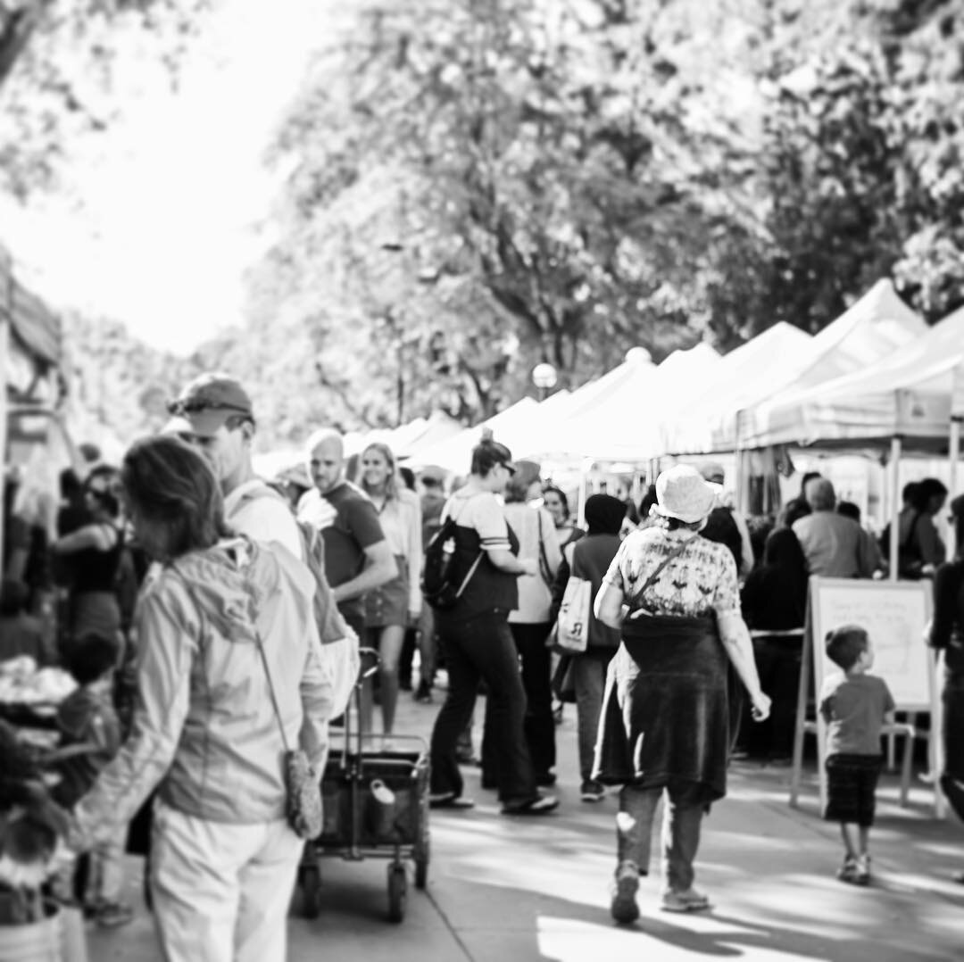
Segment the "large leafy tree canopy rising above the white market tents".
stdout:
<svg viewBox="0 0 964 962">
<path fill-rule="evenodd" d="M 814 332 L 882 276 L 934 321 L 964 303 L 962 28 L 964 0 L 342 5 L 249 316 L 193 363 L 294 439 Z"/>
</svg>

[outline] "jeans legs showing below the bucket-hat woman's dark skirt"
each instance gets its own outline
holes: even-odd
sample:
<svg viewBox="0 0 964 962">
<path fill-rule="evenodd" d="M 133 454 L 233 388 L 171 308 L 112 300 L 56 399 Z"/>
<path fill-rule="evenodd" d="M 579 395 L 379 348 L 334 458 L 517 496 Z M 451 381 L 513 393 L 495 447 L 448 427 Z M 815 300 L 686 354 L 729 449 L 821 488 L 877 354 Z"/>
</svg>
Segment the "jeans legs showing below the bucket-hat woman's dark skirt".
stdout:
<svg viewBox="0 0 964 962">
<path fill-rule="evenodd" d="M 619 793 L 616 843 L 619 862 L 633 862 L 641 875 L 649 873 L 656 806 L 666 792 L 662 826 L 663 886 L 684 892 L 693 884 L 693 862 L 700 846 L 700 825 L 706 802 L 693 782 L 671 780 L 664 788 L 626 785 Z"/>
</svg>

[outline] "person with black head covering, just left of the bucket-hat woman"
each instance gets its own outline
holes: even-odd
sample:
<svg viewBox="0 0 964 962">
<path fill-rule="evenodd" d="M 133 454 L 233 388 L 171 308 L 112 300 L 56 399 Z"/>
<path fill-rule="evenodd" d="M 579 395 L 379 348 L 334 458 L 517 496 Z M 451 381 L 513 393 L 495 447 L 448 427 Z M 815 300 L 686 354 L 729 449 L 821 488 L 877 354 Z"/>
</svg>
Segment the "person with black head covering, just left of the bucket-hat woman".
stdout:
<svg viewBox="0 0 964 962">
<path fill-rule="evenodd" d="M 586 524 L 589 533 L 567 546 L 562 564 L 552 587 L 552 607 L 549 618 L 555 621 L 559 605 L 566 594 L 570 575 L 585 578 L 592 585 L 589 601 L 589 642 L 582 655 L 563 655 L 572 658 L 572 680 L 576 688 L 576 729 L 579 739 L 579 795 L 584 802 L 598 802 L 605 795 L 605 788 L 593 781 L 593 759 L 596 746 L 596 730 L 603 708 L 605 670 L 616 649 L 619 648 L 619 631 L 603 625 L 596 618 L 592 607 L 599 594 L 603 576 L 609 570 L 612 559 L 621 544 L 620 528 L 626 516 L 626 503 L 610 494 L 593 494 L 586 500 Z"/>
</svg>

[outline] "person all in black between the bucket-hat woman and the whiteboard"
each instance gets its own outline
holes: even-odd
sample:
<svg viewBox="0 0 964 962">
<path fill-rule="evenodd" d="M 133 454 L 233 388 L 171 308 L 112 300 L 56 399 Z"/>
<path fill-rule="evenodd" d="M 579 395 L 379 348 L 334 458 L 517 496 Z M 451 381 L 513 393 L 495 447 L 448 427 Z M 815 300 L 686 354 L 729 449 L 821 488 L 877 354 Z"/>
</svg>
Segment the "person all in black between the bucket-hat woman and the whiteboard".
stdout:
<svg viewBox="0 0 964 962">
<path fill-rule="evenodd" d="M 747 577 L 740 603 L 753 637 L 760 683 L 773 699 L 770 718 L 751 731 L 759 733 L 759 745 L 770 761 L 786 762 L 793 742 L 807 613 L 807 562 L 790 528 L 770 533 L 763 564 Z"/>
</svg>

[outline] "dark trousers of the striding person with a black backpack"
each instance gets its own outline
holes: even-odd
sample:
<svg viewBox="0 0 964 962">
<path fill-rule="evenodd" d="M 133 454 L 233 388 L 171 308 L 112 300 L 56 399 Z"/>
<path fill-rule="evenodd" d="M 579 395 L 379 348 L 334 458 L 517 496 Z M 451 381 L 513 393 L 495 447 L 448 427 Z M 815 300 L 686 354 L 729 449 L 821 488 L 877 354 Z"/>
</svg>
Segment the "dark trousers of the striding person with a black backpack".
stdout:
<svg viewBox="0 0 964 962">
<path fill-rule="evenodd" d="M 489 689 L 486 733 L 502 802 L 527 801 L 537 794 L 532 760 L 522 726 L 525 692 L 519 656 L 504 613 L 454 622 L 440 618 L 438 632 L 448 669 L 448 694 L 432 730 L 432 792 L 462 794 L 456 759 L 459 735 L 469 724 L 479 681 Z"/>
</svg>

